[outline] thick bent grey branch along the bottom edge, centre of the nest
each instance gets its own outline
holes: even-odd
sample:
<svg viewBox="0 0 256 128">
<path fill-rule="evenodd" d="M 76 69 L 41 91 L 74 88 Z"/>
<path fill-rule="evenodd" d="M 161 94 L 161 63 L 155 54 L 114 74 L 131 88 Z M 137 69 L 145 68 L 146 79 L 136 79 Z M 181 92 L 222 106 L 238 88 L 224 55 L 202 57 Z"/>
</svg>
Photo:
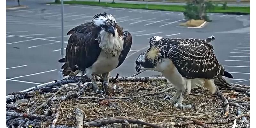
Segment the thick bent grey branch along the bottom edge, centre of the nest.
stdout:
<svg viewBox="0 0 256 128">
<path fill-rule="evenodd" d="M 91 122 L 86 122 L 84 123 L 84 126 L 102 126 L 102 125 L 106 125 L 106 124 L 113 124 L 113 123 L 125 123 L 124 120 L 126 118 L 119 116 L 119 117 L 111 117 L 111 118 L 105 118 L 105 119 L 100 119 L 100 120 L 95 120 L 95 121 L 91 121 Z M 139 121 L 139 120 L 130 120 L 130 119 L 126 119 L 129 123 L 131 124 L 142 124 L 142 125 L 146 125 L 149 127 L 153 127 L 153 128 L 164 128 L 162 126 L 156 125 L 156 124 L 149 124 L 143 121 Z"/>
</svg>

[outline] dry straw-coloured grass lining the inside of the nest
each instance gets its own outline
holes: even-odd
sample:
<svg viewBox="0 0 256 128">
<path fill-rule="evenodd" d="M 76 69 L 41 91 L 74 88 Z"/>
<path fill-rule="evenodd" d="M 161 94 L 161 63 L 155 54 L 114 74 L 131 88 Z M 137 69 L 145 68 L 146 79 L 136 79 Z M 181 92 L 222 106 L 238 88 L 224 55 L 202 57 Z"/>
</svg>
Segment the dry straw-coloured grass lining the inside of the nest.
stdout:
<svg viewBox="0 0 256 128">
<path fill-rule="evenodd" d="M 193 104 L 192 109 L 181 110 L 174 108 L 168 101 L 157 99 L 159 96 L 174 95 L 176 90 L 173 88 L 168 92 L 161 95 L 145 96 L 140 98 L 125 98 L 132 96 L 140 96 L 143 94 L 159 92 L 166 88 L 171 87 L 164 81 L 155 82 L 118 82 L 122 92 L 115 94 L 117 99 L 100 99 L 100 95 L 91 93 L 87 90 L 84 95 L 79 98 L 73 98 L 70 100 L 58 102 L 51 102 L 46 108 L 56 108 L 59 105 L 60 117 L 58 118 L 56 125 L 66 125 L 69 127 L 76 127 L 76 115 L 75 109 L 80 108 L 83 112 L 84 122 L 108 118 L 123 116 L 129 119 L 141 119 L 145 122 L 152 124 L 170 123 L 170 122 L 187 122 L 193 119 L 200 120 L 202 122 L 209 122 L 214 120 L 222 120 L 228 118 L 234 118 L 237 116 L 236 106 L 230 106 L 228 115 L 224 115 L 223 100 L 217 95 L 212 94 L 208 90 L 197 89 L 191 91 L 190 95 L 183 101 L 183 104 Z M 77 92 L 74 88 L 66 88 L 60 91 L 56 97 L 62 97 L 67 93 Z M 250 104 L 250 97 L 245 96 L 241 92 L 235 91 L 223 91 L 225 97 L 229 97 L 229 102 L 244 102 Z M 37 103 L 37 106 L 44 103 L 50 98 L 53 93 L 36 94 L 30 99 Z M 101 97 L 102 98 L 102 97 Z M 202 104 L 199 111 L 194 107 Z M 35 107 L 35 106 L 34 106 Z M 245 109 L 250 110 L 250 107 L 244 106 Z M 20 109 L 32 110 L 31 107 L 22 107 Z M 56 113 L 57 110 L 52 110 L 52 113 Z M 28 111 L 27 111 L 28 112 Z M 40 110 L 39 113 L 44 115 L 44 110 Z M 53 114 L 54 115 L 54 114 Z M 247 118 L 248 119 L 248 118 Z M 52 120 L 42 122 L 42 126 L 51 125 Z M 211 127 L 216 128 L 228 128 L 232 127 L 233 121 L 225 124 L 209 124 Z M 190 124 L 184 126 L 184 128 L 201 128 L 197 124 Z"/>
</svg>

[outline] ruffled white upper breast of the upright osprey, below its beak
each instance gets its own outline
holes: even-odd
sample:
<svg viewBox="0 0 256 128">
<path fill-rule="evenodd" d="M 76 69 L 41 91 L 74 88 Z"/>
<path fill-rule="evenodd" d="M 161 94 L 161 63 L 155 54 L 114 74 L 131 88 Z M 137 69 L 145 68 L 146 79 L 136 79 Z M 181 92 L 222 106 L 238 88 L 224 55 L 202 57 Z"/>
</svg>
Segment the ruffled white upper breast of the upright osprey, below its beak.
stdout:
<svg viewBox="0 0 256 128">
<path fill-rule="evenodd" d="M 115 37 L 105 30 L 100 31 L 99 47 L 104 50 L 106 54 L 117 56 L 118 52 L 123 50 L 123 44 L 124 40 L 122 37 L 118 36 L 117 30 L 115 30 Z"/>
</svg>

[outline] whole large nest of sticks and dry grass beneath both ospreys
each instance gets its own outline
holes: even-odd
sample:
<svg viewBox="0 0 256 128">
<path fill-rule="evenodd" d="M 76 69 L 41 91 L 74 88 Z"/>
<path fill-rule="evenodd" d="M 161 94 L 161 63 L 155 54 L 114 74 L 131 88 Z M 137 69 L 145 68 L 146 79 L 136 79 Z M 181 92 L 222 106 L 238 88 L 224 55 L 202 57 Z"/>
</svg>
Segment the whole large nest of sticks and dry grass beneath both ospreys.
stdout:
<svg viewBox="0 0 256 128">
<path fill-rule="evenodd" d="M 250 86 L 231 84 L 215 94 L 204 88 L 192 90 L 174 108 L 164 95 L 176 89 L 164 77 L 118 77 L 110 83 L 98 78 L 103 94 L 92 92 L 87 76 L 68 77 L 6 98 L 6 127 L 26 128 L 235 128 L 250 127 Z M 162 98 L 161 98 L 162 97 Z"/>
</svg>

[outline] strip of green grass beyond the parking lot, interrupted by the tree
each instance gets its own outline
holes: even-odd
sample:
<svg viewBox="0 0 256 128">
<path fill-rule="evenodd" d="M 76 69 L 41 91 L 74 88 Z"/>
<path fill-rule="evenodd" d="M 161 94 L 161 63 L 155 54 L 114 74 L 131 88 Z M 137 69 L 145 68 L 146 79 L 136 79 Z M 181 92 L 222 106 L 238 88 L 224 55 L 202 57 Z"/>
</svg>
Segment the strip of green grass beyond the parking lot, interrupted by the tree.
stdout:
<svg viewBox="0 0 256 128">
<path fill-rule="evenodd" d="M 146 3 L 146 2 L 145 2 Z M 61 3 L 48 3 L 48 4 L 61 4 Z M 94 1 L 64 1 L 64 4 L 81 4 L 81 5 L 91 5 L 91 6 L 103 6 L 103 7 L 116 7 L 116 8 L 131 8 L 131 9 L 148 9 L 148 10 L 164 10 L 164 11 L 184 11 L 185 6 L 178 5 L 155 5 L 148 4 L 127 4 L 127 3 L 106 3 L 106 2 L 94 2 Z M 227 9 L 222 9 L 222 7 L 215 7 L 213 11 L 207 11 L 212 13 L 233 13 L 233 14 L 250 14 L 250 7 L 227 7 Z"/>
</svg>

